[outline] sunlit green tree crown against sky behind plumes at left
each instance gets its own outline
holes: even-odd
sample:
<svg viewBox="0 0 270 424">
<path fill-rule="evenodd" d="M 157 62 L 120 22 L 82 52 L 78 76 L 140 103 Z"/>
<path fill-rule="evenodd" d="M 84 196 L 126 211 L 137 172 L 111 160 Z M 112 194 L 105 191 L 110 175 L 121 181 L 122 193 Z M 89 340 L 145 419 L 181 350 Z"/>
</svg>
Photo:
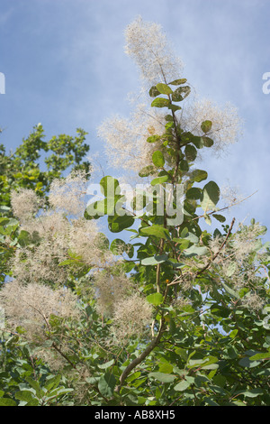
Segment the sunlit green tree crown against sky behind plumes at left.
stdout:
<svg viewBox="0 0 270 424">
<path fill-rule="evenodd" d="M 38 124 L 15 152 L 6 154 L 4 144 L 0 144 L 1 207 L 10 206 L 12 189 L 34 189 L 44 196 L 49 183 L 70 167 L 89 171 L 89 161 L 83 161 L 89 151 L 86 133 L 80 128 L 76 133 L 75 137 L 60 134 L 46 141 L 43 127 Z"/>
</svg>

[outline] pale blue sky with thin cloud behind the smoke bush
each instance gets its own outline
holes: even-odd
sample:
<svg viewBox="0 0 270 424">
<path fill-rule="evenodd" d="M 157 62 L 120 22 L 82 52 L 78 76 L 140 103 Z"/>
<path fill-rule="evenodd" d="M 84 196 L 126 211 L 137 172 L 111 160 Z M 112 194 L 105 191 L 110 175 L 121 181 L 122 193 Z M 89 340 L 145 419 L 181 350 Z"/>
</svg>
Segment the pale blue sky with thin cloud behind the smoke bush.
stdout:
<svg viewBox="0 0 270 424">
<path fill-rule="evenodd" d="M 245 120 L 241 140 L 221 158 L 200 164 L 209 180 L 248 196 L 230 212 L 270 228 L 269 0 L 0 0 L 0 143 L 14 149 L 38 123 L 45 134 L 89 134 L 127 114 L 138 87 L 136 66 L 123 51 L 125 27 L 137 16 L 160 23 L 185 63 L 184 77 L 214 102 L 231 102 Z M 105 161 L 103 168 L 106 173 Z"/>
</svg>

